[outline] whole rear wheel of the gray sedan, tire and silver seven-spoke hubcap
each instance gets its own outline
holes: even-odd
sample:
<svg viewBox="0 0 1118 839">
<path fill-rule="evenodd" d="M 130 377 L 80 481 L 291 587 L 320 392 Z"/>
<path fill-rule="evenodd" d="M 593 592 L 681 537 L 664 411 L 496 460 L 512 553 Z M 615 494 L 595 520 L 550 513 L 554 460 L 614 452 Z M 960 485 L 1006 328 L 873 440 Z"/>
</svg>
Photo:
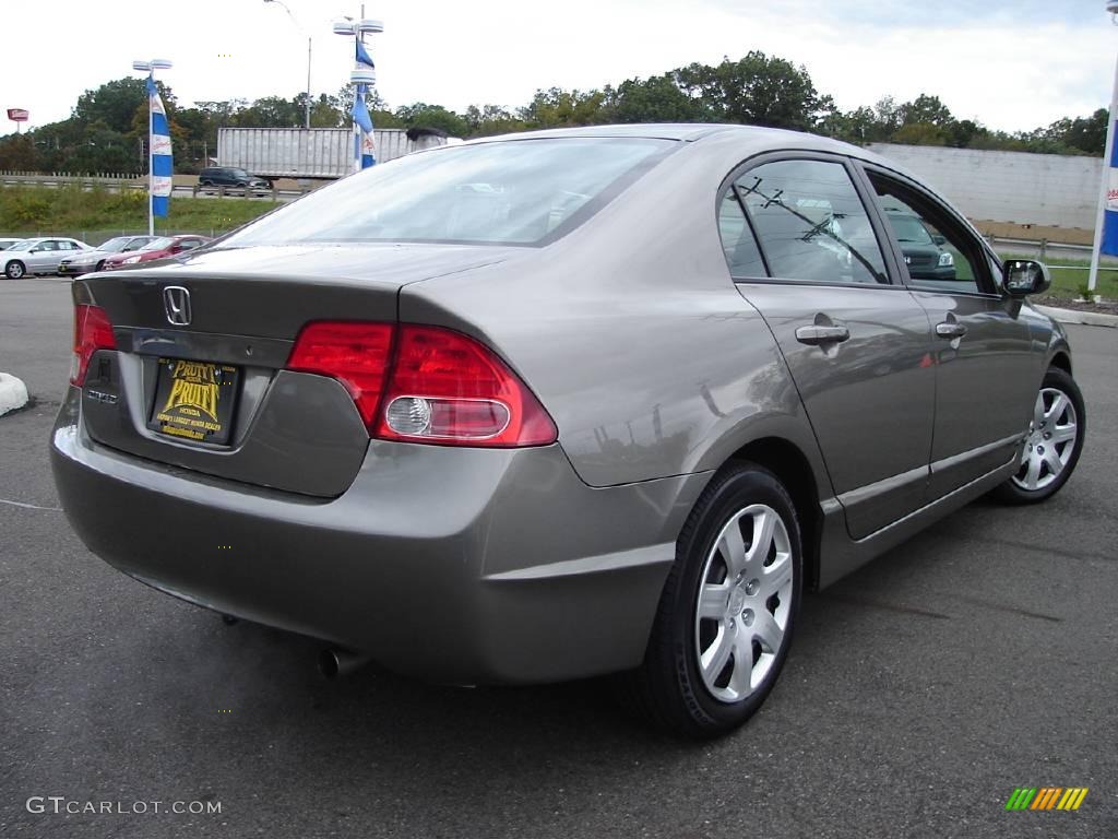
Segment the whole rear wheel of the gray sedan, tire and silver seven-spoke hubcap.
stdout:
<svg viewBox="0 0 1118 839">
<path fill-rule="evenodd" d="M 712 737 L 765 701 L 799 609 L 802 547 L 792 499 L 738 463 L 703 491 L 676 543 L 642 667 L 627 696 L 661 728 Z"/>
</svg>

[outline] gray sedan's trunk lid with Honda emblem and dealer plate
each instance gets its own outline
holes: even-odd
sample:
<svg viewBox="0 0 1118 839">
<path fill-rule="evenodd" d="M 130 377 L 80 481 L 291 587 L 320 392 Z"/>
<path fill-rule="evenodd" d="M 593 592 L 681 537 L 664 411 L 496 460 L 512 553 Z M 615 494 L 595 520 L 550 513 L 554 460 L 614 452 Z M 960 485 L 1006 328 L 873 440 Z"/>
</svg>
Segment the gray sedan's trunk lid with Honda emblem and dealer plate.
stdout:
<svg viewBox="0 0 1118 839">
<path fill-rule="evenodd" d="M 300 330 L 312 321 L 395 322 L 404 285 L 502 261 L 505 251 L 217 248 L 83 277 L 75 304 L 101 308 L 116 343 L 89 359 L 88 433 L 171 466 L 339 496 L 369 435 L 340 381 L 284 369 Z"/>
</svg>

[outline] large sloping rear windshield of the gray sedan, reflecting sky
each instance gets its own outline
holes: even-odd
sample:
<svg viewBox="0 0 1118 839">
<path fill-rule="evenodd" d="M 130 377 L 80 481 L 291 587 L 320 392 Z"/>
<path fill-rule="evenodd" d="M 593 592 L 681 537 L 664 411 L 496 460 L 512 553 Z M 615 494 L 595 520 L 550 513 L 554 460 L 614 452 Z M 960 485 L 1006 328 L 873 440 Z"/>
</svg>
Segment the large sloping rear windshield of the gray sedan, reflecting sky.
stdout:
<svg viewBox="0 0 1118 839">
<path fill-rule="evenodd" d="M 537 244 L 584 221 L 675 145 L 569 138 L 410 154 L 312 192 L 222 244 Z"/>
</svg>

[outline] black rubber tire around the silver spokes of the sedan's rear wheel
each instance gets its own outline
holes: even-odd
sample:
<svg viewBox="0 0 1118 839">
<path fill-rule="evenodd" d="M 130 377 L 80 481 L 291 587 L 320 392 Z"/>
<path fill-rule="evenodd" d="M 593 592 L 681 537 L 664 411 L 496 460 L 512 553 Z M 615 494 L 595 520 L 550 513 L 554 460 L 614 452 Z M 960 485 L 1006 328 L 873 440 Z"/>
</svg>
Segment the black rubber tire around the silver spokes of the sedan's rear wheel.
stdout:
<svg viewBox="0 0 1118 839">
<path fill-rule="evenodd" d="M 761 603 L 758 597 L 766 596 L 766 588 L 758 588 L 755 585 L 756 579 L 741 578 L 740 585 L 737 586 L 741 591 L 735 594 L 729 564 L 724 563 L 719 567 L 722 549 L 716 552 L 716 543 L 719 541 L 723 529 L 730 527 L 735 518 L 741 516 L 748 508 L 758 511 L 767 508 L 779 517 L 784 526 L 786 540 L 783 540 L 783 537 L 771 539 L 773 549 L 766 552 L 759 562 L 764 564 L 764 568 L 776 568 L 777 560 L 774 557 L 777 556 L 784 557 L 780 559 L 781 563 L 790 563 L 790 586 L 785 584 L 785 588 L 781 588 L 787 604 L 780 602 L 780 597 L 776 594 L 768 596 L 767 601 Z M 749 555 L 748 546 L 752 544 L 755 528 L 758 526 L 756 522 L 759 519 L 755 518 L 758 515 L 768 516 L 768 512 L 757 512 L 748 518 L 741 518 L 741 522 L 749 522 L 748 534 L 741 524 L 732 525 L 741 534 L 747 548 L 746 557 Z M 777 554 L 778 541 L 783 541 L 787 550 Z M 746 567 L 748 566 L 747 558 Z M 754 566 L 748 573 L 742 571 L 735 579 L 742 575 L 752 576 L 757 567 L 760 566 Z M 697 739 L 726 734 L 749 719 L 773 689 L 787 658 L 795 618 L 799 611 L 802 569 L 799 519 L 788 492 L 776 475 L 767 469 L 746 462 L 732 463 L 720 470 L 703 490 L 676 541 L 675 564 L 661 594 L 644 662 L 639 669 L 620 677 L 626 704 L 633 706 L 656 727 Z M 697 620 L 700 590 L 728 584 L 727 616 L 718 620 L 702 619 L 701 622 Z M 749 586 L 754 586 L 755 598 L 743 600 Z M 758 591 L 759 595 L 756 594 Z M 754 618 L 755 613 L 750 609 L 745 609 L 739 614 L 737 610 L 743 606 L 766 609 L 769 612 L 766 621 L 775 612 L 784 616 L 785 625 L 775 653 L 773 650 L 764 653 L 761 644 L 754 639 L 752 630 L 747 629 L 747 613 L 749 626 L 752 626 L 756 620 L 756 625 L 759 628 L 761 622 L 759 618 Z M 730 611 L 733 611 L 733 618 L 729 616 Z M 719 626 L 722 629 L 719 630 Z M 742 698 L 732 699 L 726 696 L 719 698 L 714 692 L 732 691 L 735 669 L 738 667 L 736 653 L 730 653 L 731 658 L 719 671 L 721 676 L 713 673 L 712 670 L 713 687 L 708 685 L 701 673 L 700 645 L 707 643 L 703 640 L 704 635 L 709 640 L 711 628 L 718 633 L 718 638 L 711 640 L 707 648 L 708 652 L 718 645 L 718 639 L 723 638 L 722 633 L 727 633 L 726 637 L 730 638 L 729 633 L 732 631 L 736 633 L 735 637 L 746 639 L 751 659 L 748 662 L 748 675 L 754 672 L 755 667 L 760 667 L 759 656 L 769 656 L 765 664 L 768 669 L 760 677 L 760 682 Z M 722 644 L 726 643 L 729 642 L 723 639 Z M 727 671 L 730 672 L 728 679 Z M 742 670 L 742 673 L 746 673 L 746 670 Z M 724 686 L 720 685 L 723 679 L 728 682 Z"/>
</svg>

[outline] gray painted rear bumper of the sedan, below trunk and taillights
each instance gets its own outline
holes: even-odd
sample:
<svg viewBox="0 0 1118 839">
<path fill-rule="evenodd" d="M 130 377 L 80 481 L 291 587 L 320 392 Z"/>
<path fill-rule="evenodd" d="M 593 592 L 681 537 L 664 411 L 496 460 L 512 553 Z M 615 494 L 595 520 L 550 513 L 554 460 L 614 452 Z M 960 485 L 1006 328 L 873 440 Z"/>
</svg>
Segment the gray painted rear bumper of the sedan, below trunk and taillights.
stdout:
<svg viewBox="0 0 1118 839">
<path fill-rule="evenodd" d="M 709 473 L 591 489 L 558 445 L 373 442 L 323 501 L 93 442 L 70 388 L 51 465 L 74 529 L 169 594 L 442 682 L 636 666 Z"/>
</svg>

